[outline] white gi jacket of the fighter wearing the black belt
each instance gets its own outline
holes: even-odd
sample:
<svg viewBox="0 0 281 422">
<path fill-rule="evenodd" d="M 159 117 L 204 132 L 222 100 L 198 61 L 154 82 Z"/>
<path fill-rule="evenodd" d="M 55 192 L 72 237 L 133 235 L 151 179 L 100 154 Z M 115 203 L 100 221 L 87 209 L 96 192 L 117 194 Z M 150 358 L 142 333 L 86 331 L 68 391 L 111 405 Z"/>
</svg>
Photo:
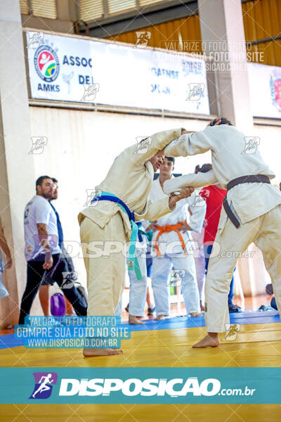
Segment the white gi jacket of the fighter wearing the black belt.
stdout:
<svg viewBox="0 0 281 422">
<path fill-rule="evenodd" d="M 226 124 L 208 126 L 194 134 L 183 134 L 166 146 L 165 155 L 186 157 L 211 150 L 213 170 L 165 181 L 164 191 L 168 194 L 183 186 L 200 188 L 216 183 L 226 189 L 230 180 L 249 174 L 265 174 L 273 179 L 275 174 L 263 162 L 259 148 L 249 142 L 242 132 Z M 249 148 L 250 146 L 254 148 Z M 270 184 L 240 184 L 228 191 L 228 203 L 232 203 L 240 222 L 244 224 L 279 205 L 281 193 Z M 219 228 L 223 223 L 220 221 Z"/>
</svg>

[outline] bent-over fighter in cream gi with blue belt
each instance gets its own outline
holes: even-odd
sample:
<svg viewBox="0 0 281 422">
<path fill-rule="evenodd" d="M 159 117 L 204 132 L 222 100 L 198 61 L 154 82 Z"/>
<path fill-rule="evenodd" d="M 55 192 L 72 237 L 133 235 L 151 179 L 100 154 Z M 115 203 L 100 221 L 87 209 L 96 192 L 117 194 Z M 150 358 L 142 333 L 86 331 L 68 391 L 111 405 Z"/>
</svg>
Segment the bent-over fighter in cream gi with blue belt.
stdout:
<svg viewBox="0 0 281 422">
<path fill-rule="evenodd" d="M 115 158 L 107 177 L 96 186 L 98 195 L 94 198 L 94 206 L 79 213 L 81 243 L 87 245 L 84 263 L 88 315 L 115 314 L 124 290 L 125 247 L 134 232 L 131 230 L 131 227 L 134 229 L 133 218 L 136 221 L 158 219 L 174 210 L 178 200 L 192 193 L 192 188 L 186 188 L 181 196 L 165 196 L 156 203 L 148 200 L 153 174 L 164 158 L 162 149 L 181 136 L 181 132 L 182 129 L 159 132 L 126 148 Z M 134 262 L 132 257 L 131 263 Z M 85 356 L 121 352 L 84 349 Z"/>
</svg>

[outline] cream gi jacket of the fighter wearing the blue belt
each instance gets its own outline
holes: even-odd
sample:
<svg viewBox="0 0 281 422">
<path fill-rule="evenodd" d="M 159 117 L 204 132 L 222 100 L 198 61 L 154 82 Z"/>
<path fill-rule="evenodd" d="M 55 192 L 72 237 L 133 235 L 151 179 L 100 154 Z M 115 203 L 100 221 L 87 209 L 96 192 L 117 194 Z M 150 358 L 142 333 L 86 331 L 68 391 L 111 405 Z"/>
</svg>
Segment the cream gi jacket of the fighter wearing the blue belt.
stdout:
<svg viewBox="0 0 281 422">
<path fill-rule="evenodd" d="M 154 175 L 152 164 L 148 160 L 180 135 L 181 129 L 158 132 L 148 139 L 147 151 L 141 151 L 139 144 L 126 148 L 115 158 L 107 177 L 96 186 L 96 190 L 114 193 L 135 212 L 136 221 L 155 220 L 171 212 L 169 196 L 164 196 L 156 203 L 148 200 Z M 129 241 L 131 224 L 128 215 L 116 203 L 100 201 L 95 206 L 85 208 L 79 213 L 79 224 L 86 216 L 103 229 L 117 212 L 122 215 L 126 239 Z"/>
</svg>

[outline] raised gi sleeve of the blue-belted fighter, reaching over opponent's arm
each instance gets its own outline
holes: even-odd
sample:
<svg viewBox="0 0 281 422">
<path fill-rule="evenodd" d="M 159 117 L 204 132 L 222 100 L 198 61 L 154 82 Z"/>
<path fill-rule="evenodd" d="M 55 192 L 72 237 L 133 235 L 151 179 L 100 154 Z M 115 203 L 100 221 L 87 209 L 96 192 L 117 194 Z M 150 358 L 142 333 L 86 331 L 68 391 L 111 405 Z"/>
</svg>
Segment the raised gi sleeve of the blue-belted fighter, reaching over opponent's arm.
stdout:
<svg viewBox="0 0 281 422">
<path fill-rule="evenodd" d="M 132 164 L 143 165 L 145 161 L 152 158 L 153 155 L 159 150 L 162 150 L 168 143 L 177 139 L 178 136 L 181 136 L 181 129 L 158 132 L 157 134 L 149 136 L 148 138 L 143 139 L 143 141 L 126 148 L 124 153 L 128 155 Z"/>
</svg>

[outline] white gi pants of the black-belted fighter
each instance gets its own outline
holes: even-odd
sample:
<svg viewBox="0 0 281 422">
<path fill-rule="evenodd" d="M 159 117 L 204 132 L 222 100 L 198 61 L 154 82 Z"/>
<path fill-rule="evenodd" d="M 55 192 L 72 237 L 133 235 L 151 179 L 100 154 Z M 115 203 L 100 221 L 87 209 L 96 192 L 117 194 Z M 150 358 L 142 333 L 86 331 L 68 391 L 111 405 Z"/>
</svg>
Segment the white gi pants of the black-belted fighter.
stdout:
<svg viewBox="0 0 281 422">
<path fill-rule="evenodd" d="M 226 221 L 226 224 L 222 224 Z M 207 312 L 205 319 L 208 333 L 223 333 L 228 328 L 228 293 L 237 252 L 244 252 L 254 242 L 263 252 L 263 260 L 273 283 L 277 308 L 281 310 L 281 205 L 244 224 L 238 229 L 221 210 L 215 242 L 220 254 L 209 260 L 205 285 Z M 233 253 L 232 253 L 233 252 Z M 220 255 L 223 253 L 223 257 Z M 216 255 L 216 253 L 215 253 Z M 250 259 L 250 258 L 249 258 Z M 205 309 L 206 310 L 206 309 Z"/>
</svg>

